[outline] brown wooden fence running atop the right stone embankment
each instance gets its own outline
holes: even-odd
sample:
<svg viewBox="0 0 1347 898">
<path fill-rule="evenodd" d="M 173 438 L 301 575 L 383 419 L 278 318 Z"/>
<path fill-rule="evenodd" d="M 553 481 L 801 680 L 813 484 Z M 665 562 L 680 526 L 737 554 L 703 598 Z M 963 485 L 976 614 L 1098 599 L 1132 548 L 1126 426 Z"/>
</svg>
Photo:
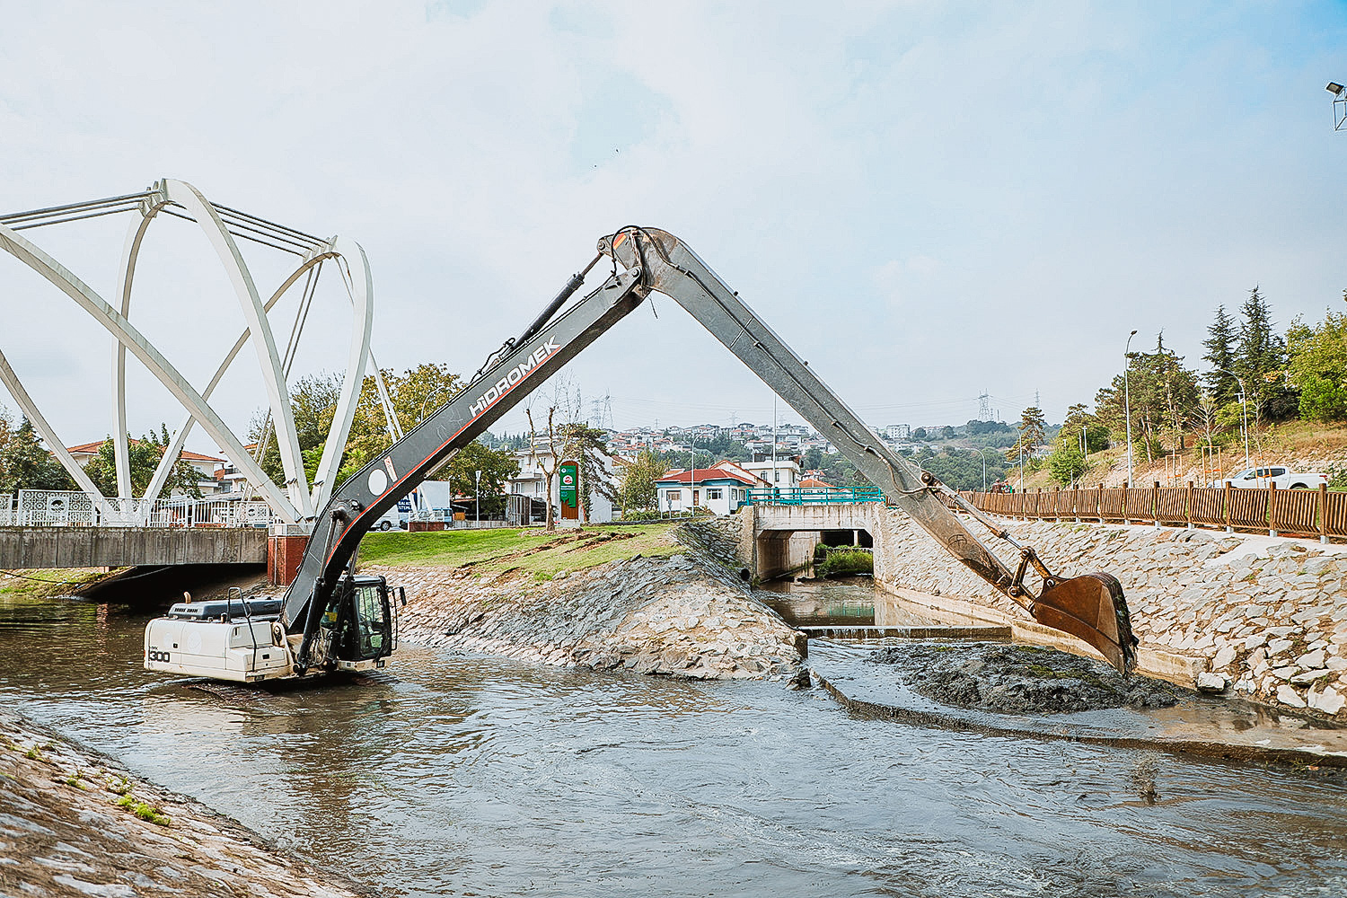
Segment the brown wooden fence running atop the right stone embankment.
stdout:
<svg viewBox="0 0 1347 898">
<path fill-rule="evenodd" d="M 1219 526 L 1270 536 L 1347 537 L 1347 493 L 1317 490 L 1241 490 L 1233 486 L 1114 486 L 960 493 L 979 510 L 1025 521 Z"/>
</svg>

